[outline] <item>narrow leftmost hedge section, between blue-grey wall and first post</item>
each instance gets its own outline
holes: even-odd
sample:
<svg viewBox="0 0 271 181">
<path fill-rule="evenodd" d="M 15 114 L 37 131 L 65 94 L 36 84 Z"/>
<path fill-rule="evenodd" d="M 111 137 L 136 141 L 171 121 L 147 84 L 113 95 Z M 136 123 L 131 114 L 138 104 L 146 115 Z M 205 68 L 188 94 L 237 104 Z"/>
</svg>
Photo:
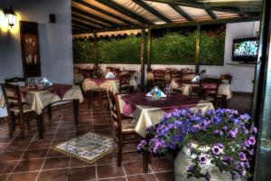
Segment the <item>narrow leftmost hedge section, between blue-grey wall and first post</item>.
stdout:
<svg viewBox="0 0 271 181">
<path fill-rule="evenodd" d="M 75 63 L 95 63 L 94 43 L 89 39 L 72 41 L 73 62 Z"/>
</svg>

